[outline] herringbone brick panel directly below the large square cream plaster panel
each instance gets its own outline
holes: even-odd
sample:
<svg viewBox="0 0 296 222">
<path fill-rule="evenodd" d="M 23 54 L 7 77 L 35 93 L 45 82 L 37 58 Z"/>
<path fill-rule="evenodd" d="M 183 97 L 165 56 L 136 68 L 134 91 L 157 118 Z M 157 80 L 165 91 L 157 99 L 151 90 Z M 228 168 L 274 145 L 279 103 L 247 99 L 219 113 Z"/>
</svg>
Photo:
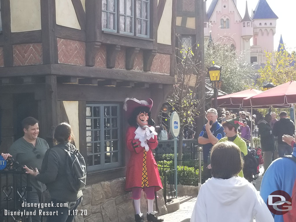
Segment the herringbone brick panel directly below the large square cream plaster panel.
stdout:
<svg viewBox="0 0 296 222">
<path fill-rule="evenodd" d="M 42 44 L 29 43 L 13 45 L 13 66 L 42 64 Z"/>
</svg>

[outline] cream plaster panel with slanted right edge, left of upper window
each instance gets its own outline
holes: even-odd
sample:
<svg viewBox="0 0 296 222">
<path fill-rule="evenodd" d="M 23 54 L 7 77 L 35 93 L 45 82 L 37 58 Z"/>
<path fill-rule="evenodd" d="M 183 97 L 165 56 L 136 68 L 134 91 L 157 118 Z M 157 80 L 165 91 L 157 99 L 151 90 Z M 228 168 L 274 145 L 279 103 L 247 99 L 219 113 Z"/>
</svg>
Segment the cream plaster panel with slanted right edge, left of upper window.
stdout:
<svg viewBox="0 0 296 222">
<path fill-rule="evenodd" d="M 56 20 L 57 25 L 80 29 L 74 6 L 71 0 L 56 1 Z"/>
</svg>

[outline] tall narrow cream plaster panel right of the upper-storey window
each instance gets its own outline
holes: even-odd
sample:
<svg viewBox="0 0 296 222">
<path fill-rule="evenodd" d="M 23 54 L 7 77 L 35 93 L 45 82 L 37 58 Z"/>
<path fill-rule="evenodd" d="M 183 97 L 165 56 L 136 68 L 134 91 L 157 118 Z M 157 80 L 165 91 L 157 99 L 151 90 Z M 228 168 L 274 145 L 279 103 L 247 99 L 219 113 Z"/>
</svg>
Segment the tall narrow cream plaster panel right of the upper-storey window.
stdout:
<svg viewBox="0 0 296 222">
<path fill-rule="evenodd" d="M 171 33 L 172 33 L 172 14 L 173 14 L 173 0 L 167 0 L 165 2 L 165 8 L 163 9 L 163 16 L 160 19 L 160 23 L 157 30 L 157 43 L 171 45 Z"/>
</svg>

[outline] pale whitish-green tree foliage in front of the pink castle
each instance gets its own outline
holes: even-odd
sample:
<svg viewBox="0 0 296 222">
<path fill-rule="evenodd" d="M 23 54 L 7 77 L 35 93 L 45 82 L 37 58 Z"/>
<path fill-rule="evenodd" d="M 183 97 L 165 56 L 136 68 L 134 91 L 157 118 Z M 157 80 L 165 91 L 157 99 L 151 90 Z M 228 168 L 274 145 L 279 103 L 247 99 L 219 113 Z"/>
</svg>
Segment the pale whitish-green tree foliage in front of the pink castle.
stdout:
<svg viewBox="0 0 296 222">
<path fill-rule="evenodd" d="M 222 66 L 221 90 L 230 94 L 250 88 L 252 85 L 254 69 L 246 62 L 246 52 L 236 54 L 231 45 L 224 42 L 210 42 L 205 44 L 205 67 L 213 65 Z"/>
</svg>

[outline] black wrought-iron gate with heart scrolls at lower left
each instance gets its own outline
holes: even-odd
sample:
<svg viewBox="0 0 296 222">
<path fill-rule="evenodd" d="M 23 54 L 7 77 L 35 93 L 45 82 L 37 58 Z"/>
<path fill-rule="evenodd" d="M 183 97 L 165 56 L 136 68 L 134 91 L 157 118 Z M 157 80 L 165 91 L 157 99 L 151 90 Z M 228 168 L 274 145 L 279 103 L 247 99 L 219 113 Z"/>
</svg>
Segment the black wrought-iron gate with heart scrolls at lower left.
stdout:
<svg viewBox="0 0 296 222">
<path fill-rule="evenodd" d="M 25 181 L 25 182 L 24 182 Z M 26 206 L 30 199 L 30 177 L 22 171 L 22 167 L 12 158 L 7 161 L 6 168 L 0 170 L 0 221 L 28 221 L 30 214 Z"/>
</svg>

